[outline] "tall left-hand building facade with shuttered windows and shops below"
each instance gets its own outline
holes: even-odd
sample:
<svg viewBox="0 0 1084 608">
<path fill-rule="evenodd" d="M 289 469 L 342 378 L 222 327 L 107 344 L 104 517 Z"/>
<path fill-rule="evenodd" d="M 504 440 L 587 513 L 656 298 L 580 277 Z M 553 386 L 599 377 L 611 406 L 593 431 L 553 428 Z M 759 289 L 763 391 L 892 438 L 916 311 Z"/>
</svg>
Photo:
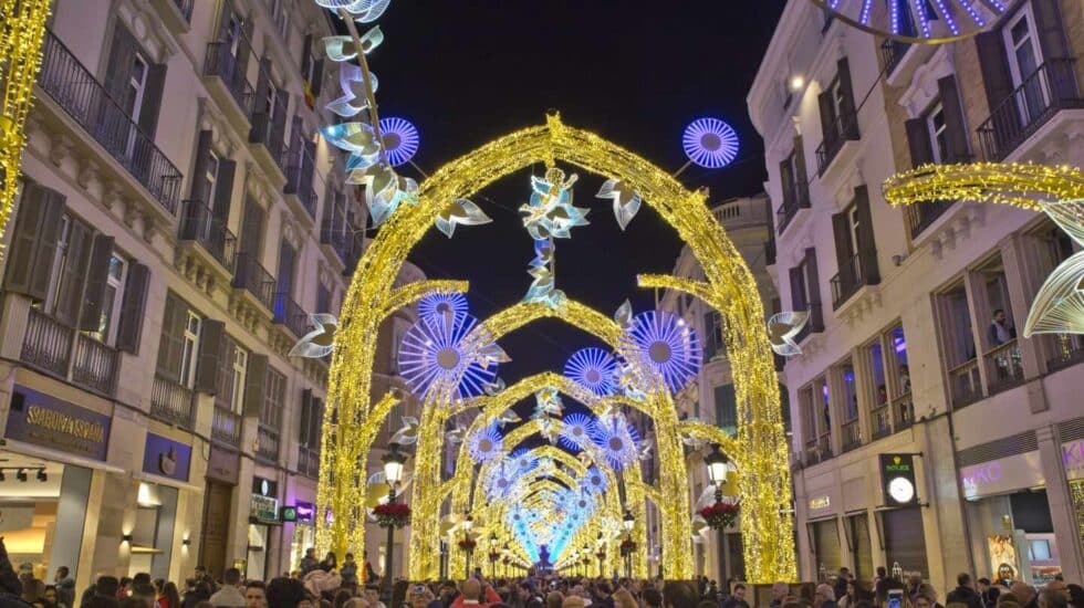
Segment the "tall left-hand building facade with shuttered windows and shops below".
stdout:
<svg viewBox="0 0 1084 608">
<path fill-rule="evenodd" d="M 4 239 L 0 535 L 81 589 L 294 569 L 327 361 L 286 354 L 367 220 L 317 132 L 332 24 L 309 0 L 53 9 Z"/>
</svg>

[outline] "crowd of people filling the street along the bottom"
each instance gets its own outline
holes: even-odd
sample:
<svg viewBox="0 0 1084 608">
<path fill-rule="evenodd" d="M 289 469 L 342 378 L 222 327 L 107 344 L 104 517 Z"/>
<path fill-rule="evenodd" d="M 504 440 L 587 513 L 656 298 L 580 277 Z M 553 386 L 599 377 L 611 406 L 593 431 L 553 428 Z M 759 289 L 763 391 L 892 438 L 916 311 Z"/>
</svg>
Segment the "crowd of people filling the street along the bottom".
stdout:
<svg viewBox="0 0 1084 608">
<path fill-rule="evenodd" d="M 392 585 L 387 604 L 368 560 L 352 555 L 340 565 L 329 554 L 317 560 L 306 553 L 288 575 L 246 580 L 237 568 L 215 580 L 197 568 L 184 588 L 140 573 L 132 578 L 101 576 L 76 597 L 69 569 L 58 568 L 52 585 L 32 572 L 15 570 L 0 539 L 0 608 L 1084 608 L 1084 589 L 1052 580 L 1042 589 L 1022 581 L 1005 585 L 960 574 L 944 602 L 920 577 L 906 580 L 879 568 L 869 581 L 846 568 L 814 583 L 776 583 L 754 594 L 728 581 L 721 588 L 701 577 L 664 581 L 577 576 L 539 576 L 488 580 L 480 570 L 461 583 L 451 580 Z M 386 591 L 386 589 L 385 589 Z"/>
</svg>

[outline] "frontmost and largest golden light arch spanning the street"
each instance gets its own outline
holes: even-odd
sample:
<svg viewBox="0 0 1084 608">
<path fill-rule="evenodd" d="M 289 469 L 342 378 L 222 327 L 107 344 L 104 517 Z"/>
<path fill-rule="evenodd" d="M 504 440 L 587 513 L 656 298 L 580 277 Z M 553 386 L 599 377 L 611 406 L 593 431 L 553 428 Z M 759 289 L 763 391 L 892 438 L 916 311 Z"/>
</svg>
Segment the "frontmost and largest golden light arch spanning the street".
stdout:
<svg viewBox="0 0 1084 608">
<path fill-rule="evenodd" d="M 359 261 L 343 304 L 330 375 L 317 503 L 333 517 L 330 522 L 316 517 L 317 544 L 340 554 L 347 547 L 361 551 L 364 546 L 356 479 L 366 470 L 373 429 L 383 422 L 383 417 L 373 416 L 374 397 L 378 402 L 381 397 L 371 395 L 376 336 L 395 302 L 394 281 L 410 250 L 456 199 L 469 198 L 530 165 L 557 160 L 621 179 L 677 230 L 700 263 L 703 282 L 650 276 L 642 277 L 640 286 L 692 293 L 722 315 L 738 401 L 734 455 L 741 458 L 739 493 L 747 578 L 752 583 L 795 579 L 789 447 L 763 308 L 749 268 L 712 217 L 703 195 L 687 190 L 635 154 L 564 125 L 555 114 L 543 126 L 512 133 L 437 170 L 420 185 L 417 203 L 399 206 Z M 678 468 L 684 471 L 685 460 L 680 449 L 674 448 L 680 442 L 676 412 L 669 405 L 656 412 L 657 420 L 674 415 L 675 422 L 673 437 L 659 438 L 659 491 L 684 496 L 675 502 L 687 511 L 688 478 L 674 474 Z M 417 462 L 416 468 L 421 464 Z M 684 483 L 678 478 L 684 478 Z M 673 509 L 665 506 L 664 517 L 688 517 L 688 513 L 666 513 Z M 691 576 L 688 543 L 688 535 L 664 537 L 663 570 L 667 578 Z"/>
</svg>

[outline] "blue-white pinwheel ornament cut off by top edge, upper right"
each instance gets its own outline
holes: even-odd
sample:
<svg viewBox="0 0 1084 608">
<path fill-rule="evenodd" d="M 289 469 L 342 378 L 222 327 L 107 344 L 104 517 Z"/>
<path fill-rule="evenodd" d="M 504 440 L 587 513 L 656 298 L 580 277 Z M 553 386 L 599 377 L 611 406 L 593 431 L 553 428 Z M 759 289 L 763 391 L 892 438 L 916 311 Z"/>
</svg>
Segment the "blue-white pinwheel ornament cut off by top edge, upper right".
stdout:
<svg viewBox="0 0 1084 608">
<path fill-rule="evenodd" d="M 970 38 L 1019 0 L 813 0 L 832 17 L 903 42 L 940 44 Z"/>
</svg>

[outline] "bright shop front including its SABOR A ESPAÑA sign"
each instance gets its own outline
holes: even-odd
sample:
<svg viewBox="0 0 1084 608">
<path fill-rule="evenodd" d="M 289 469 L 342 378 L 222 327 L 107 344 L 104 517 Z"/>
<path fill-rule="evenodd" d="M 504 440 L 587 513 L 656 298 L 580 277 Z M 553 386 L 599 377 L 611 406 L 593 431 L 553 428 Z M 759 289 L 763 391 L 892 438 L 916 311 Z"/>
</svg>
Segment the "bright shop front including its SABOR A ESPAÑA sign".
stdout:
<svg viewBox="0 0 1084 608">
<path fill-rule="evenodd" d="M 91 482 L 105 464 L 111 418 L 14 385 L 0 450 L 0 536 L 17 568 L 73 576 L 86 549 Z M 93 542 L 93 531 L 88 535 Z"/>
</svg>

